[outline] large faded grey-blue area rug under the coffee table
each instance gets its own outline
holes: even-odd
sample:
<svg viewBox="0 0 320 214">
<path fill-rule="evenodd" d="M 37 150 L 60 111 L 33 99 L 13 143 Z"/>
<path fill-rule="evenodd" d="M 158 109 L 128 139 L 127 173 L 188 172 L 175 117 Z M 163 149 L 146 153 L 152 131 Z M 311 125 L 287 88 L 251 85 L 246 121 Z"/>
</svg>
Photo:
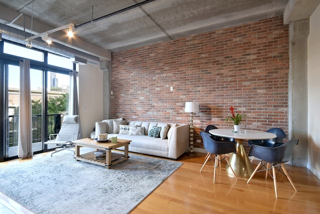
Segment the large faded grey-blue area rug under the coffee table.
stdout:
<svg viewBox="0 0 320 214">
<path fill-rule="evenodd" d="M 35 213 L 128 213 L 182 165 L 129 156 L 110 169 L 67 151 L 5 166 L 0 192 Z"/>
</svg>

